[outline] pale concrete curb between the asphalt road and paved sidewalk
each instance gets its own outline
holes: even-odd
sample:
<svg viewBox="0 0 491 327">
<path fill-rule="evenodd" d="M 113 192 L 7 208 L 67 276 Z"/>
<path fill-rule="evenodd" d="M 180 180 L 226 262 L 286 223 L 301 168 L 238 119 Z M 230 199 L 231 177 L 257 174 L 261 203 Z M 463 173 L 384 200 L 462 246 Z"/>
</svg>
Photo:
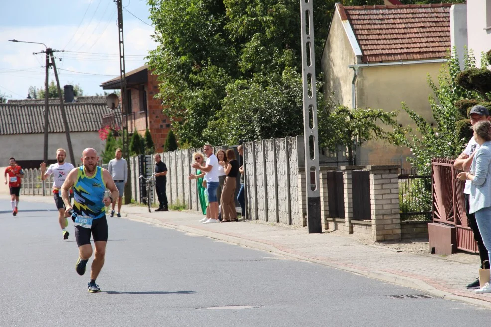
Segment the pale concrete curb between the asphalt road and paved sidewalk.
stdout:
<svg viewBox="0 0 491 327">
<path fill-rule="evenodd" d="M 290 258 L 294 258 L 297 260 L 313 262 L 313 263 L 317 263 L 317 264 L 320 264 L 323 266 L 348 271 L 351 273 L 355 273 L 355 274 L 366 276 L 366 277 L 373 278 L 373 279 L 378 279 L 378 280 L 381 280 L 381 281 L 384 281 L 387 283 L 400 285 L 400 286 L 404 286 L 404 287 L 409 287 L 409 288 L 419 290 L 419 291 L 428 293 L 434 297 L 442 298 L 445 300 L 460 301 L 460 302 L 476 305 L 479 307 L 491 309 L 491 303 L 488 301 L 483 301 L 483 300 L 479 300 L 479 299 L 475 299 L 475 298 L 470 298 L 470 297 L 465 297 L 465 296 L 455 295 L 453 293 L 445 292 L 445 291 L 439 290 L 439 289 L 435 288 L 434 286 L 431 286 L 431 285 L 429 285 L 429 284 L 427 284 L 427 283 L 425 283 L 419 279 L 415 279 L 415 278 L 399 276 L 399 275 L 395 275 L 395 274 L 388 273 L 388 272 L 381 271 L 381 270 L 363 271 L 363 270 L 359 270 L 359 269 L 352 268 L 352 267 L 346 267 L 346 266 L 342 266 L 339 264 L 333 264 L 333 263 L 318 260 L 315 258 L 310 258 L 310 257 L 286 252 L 286 251 L 278 249 L 274 245 L 264 244 L 261 242 L 257 242 L 257 241 L 253 241 L 253 240 L 249 240 L 249 239 L 245 239 L 245 238 L 240 238 L 240 237 L 236 237 L 236 236 L 230 236 L 230 235 L 226 235 L 226 234 L 222 234 L 222 233 L 218 233 L 218 232 L 213 232 L 213 231 L 209 231 L 209 230 L 202 230 L 199 228 L 194 228 L 194 227 L 189 227 L 189 226 L 174 225 L 174 224 L 162 222 L 158 219 L 139 216 L 137 214 L 123 214 L 123 218 L 128 218 L 128 219 L 136 220 L 136 221 L 143 221 L 143 222 L 152 223 L 152 224 L 156 224 L 156 225 L 163 225 L 163 226 L 166 226 L 166 227 L 169 227 L 169 228 L 172 228 L 175 230 L 187 232 L 187 233 L 193 233 L 193 234 L 206 236 L 206 237 L 221 240 L 221 241 L 226 241 L 229 243 L 234 243 L 234 244 L 238 244 L 238 245 L 251 247 L 254 249 L 259 249 L 259 250 L 263 250 L 263 251 L 277 253 L 277 254 L 281 254 L 281 255 L 284 255 L 284 256 L 287 256 Z"/>
</svg>

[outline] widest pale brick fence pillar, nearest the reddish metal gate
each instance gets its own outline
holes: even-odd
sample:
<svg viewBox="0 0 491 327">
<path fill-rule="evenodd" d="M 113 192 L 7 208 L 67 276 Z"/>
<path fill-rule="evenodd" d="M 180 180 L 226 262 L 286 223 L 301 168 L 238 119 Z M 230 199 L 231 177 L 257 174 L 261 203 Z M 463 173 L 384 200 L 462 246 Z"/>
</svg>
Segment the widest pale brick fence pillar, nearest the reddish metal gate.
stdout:
<svg viewBox="0 0 491 327">
<path fill-rule="evenodd" d="M 400 240 L 400 166 L 367 166 L 370 171 L 371 227 L 373 240 Z"/>
</svg>

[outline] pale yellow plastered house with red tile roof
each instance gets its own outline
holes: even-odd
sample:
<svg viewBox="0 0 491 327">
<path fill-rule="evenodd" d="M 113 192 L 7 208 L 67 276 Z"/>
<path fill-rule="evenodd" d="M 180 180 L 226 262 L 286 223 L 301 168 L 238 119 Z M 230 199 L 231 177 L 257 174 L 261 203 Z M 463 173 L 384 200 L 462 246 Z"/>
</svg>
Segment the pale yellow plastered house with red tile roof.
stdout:
<svg viewBox="0 0 491 327">
<path fill-rule="evenodd" d="M 336 3 L 321 61 L 324 94 L 351 108 L 392 111 L 405 102 L 431 121 L 427 78 L 436 81 L 446 62 L 451 6 Z M 399 122 L 412 121 L 401 112 Z M 409 154 L 406 148 L 366 142 L 357 156 L 361 164 L 383 164 Z"/>
</svg>

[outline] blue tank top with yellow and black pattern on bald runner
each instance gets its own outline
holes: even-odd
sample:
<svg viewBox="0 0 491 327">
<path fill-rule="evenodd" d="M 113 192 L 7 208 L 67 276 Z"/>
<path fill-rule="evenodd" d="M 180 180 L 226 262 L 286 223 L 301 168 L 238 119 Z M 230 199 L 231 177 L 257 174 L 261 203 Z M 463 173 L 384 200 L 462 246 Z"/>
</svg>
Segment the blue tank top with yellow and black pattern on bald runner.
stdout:
<svg viewBox="0 0 491 327">
<path fill-rule="evenodd" d="M 85 174 L 84 166 L 77 170 L 77 182 L 73 186 L 73 211 L 77 215 L 101 218 L 106 213 L 104 193 L 106 184 L 102 177 L 102 168 L 97 166 L 94 176 Z"/>
</svg>

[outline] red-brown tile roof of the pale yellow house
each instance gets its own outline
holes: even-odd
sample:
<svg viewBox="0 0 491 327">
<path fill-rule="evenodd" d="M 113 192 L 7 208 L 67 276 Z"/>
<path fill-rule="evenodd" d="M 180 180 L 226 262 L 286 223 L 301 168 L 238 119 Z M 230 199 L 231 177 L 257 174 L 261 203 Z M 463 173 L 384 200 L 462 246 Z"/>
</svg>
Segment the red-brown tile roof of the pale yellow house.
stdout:
<svg viewBox="0 0 491 327">
<path fill-rule="evenodd" d="M 444 58 L 451 4 L 345 6 L 363 62 Z"/>
</svg>

